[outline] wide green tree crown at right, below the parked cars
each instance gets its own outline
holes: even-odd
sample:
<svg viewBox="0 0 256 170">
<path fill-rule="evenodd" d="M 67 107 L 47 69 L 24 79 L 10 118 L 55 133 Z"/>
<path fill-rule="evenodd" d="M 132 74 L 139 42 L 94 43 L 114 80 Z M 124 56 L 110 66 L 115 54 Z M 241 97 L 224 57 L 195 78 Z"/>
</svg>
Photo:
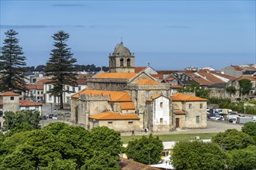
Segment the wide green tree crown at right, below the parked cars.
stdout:
<svg viewBox="0 0 256 170">
<path fill-rule="evenodd" d="M 236 129 L 228 129 L 220 132 L 212 138 L 212 142 L 220 146 L 224 151 L 233 149 L 247 148 L 249 145 L 254 145 L 254 140 L 248 134 Z"/>
</svg>

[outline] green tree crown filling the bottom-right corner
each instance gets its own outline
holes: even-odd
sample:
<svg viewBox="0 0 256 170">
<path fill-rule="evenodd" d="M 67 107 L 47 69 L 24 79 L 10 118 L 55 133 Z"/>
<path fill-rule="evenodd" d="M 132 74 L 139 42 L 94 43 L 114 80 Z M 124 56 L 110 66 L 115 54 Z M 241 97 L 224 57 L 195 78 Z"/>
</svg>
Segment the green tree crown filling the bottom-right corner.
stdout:
<svg viewBox="0 0 256 170">
<path fill-rule="evenodd" d="M 256 146 L 251 145 L 244 149 L 234 149 L 227 152 L 230 162 L 228 163 L 229 169 L 255 169 L 256 168 Z"/>
</svg>

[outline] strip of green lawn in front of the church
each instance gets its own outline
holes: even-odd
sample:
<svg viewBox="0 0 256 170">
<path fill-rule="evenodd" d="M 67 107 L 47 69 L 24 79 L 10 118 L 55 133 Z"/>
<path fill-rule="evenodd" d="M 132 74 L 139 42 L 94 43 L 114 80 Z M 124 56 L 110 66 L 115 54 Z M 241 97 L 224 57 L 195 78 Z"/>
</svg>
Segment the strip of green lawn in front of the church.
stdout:
<svg viewBox="0 0 256 170">
<path fill-rule="evenodd" d="M 215 136 L 218 133 L 209 133 L 209 134 L 154 134 L 153 136 L 158 136 L 161 141 L 188 141 L 195 139 L 195 136 L 199 136 L 200 139 L 209 139 Z M 148 137 L 148 135 L 145 135 Z M 121 136 L 123 144 L 128 144 L 128 141 L 133 139 L 140 139 L 142 135 L 138 136 Z"/>
</svg>

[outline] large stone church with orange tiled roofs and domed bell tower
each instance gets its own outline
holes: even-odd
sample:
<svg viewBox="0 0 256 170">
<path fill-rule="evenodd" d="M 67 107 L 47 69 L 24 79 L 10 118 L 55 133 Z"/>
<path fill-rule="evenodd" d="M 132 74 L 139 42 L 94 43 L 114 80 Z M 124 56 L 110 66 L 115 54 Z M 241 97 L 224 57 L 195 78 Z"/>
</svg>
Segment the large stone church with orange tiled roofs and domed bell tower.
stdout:
<svg viewBox="0 0 256 170">
<path fill-rule="evenodd" d="M 109 54 L 109 72 L 88 78 L 87 88 L 71 96 L 71 121 L 86 129 L 107 126 L 116 131 L 206 128 L 206 99 L 171 96 L 168 83 L 135 69 L 134 53 L 118 43 Z"/>
</svg>

